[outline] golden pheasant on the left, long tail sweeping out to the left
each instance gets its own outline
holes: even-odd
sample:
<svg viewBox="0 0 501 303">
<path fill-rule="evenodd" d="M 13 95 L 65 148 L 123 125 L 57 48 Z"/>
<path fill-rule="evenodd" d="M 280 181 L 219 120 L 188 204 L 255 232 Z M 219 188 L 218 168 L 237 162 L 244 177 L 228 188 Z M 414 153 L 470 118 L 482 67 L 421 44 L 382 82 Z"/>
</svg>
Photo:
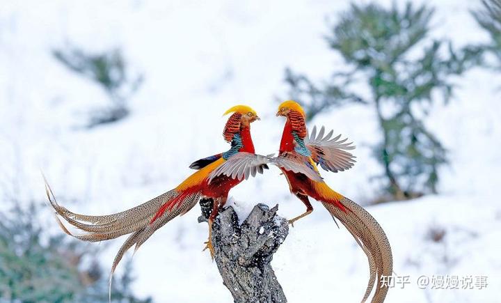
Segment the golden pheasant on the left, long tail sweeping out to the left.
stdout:
<svg viewBox="0 0 501 303">
<path fill-rule="evenodd" d="M 200 198 L 210 198 L 213 199 L 214 204 L 209 216 L 209 239 L 205 242 L 205 249 L 209 249 L 212 258 L 214 258 L 211 242 L 212 223 L 218 214 L 218 210 L 225 205 L 228 192 L 232 187 L 239 184 L 241 179 L 220 176 L 212 178 L 212 182 L 209 183 L 209 175 L 214 169 L 217 169 L 239 153 L 254 153 L 254 145 L 250 137 L 250 123 L 260 120 L 256 112 L 246 105 L 234 106 L 228 109 L 224 115 L 226 114 L 232 114 L 223 130 L 225 141 L 231 143 L 230 150 L 193 162 L 190 168 L 198 171 L 186 178 L 180 185 L 177 185 L 175 189 L 129 210 L 112 215 L 79 215 L 59 205 L 47 181 L 45 181 L 47 197 L 52 208 L 54 208 L 58 224 L 68 235 L 90 242 L 111 240 L 121 235 L 130 234 L 113 261 L 111 267 L 112 277 L 122 256 L 129 248 L 135 244 L 135 252 L 158 228 L 161 228 L 175 217 L 184 215 L 198 203 Z M 262 173 L 263 169 L 267 168 L 266 164 L 255 166 L 250 174 Z M 83 231 L 84 234 L 70 233 L 59 217 Z"/>
</svg>

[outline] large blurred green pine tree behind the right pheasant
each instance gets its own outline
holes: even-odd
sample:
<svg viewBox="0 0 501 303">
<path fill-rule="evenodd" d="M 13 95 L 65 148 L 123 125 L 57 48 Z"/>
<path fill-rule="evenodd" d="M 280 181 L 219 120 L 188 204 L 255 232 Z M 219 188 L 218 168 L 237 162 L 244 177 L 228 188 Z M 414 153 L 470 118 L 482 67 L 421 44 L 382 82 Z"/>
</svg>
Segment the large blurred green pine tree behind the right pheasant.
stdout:
<svg viewBox="0 0 501 303">
<path fill-rule="evenodd" d="M 350 70 L 334 72 L 321 85 L 286 70 L 290 95 L 304 104 L 308 119 L 349 103 L 374 109 L 381 132 L 374 155 L 384 168 L 388 195 L 381 201 L 437 191 L 446 151 L 423 119 L 437 93 L 450 100 L 451 76 L 479 61 L 477 47 L 456 52 L 450 42 L 427 39 L 433 14 L 433 9 L 410 2 L 403 10 L 395 3 L 389 9 L 352 3 L 326 37 Z"/>
</svg>

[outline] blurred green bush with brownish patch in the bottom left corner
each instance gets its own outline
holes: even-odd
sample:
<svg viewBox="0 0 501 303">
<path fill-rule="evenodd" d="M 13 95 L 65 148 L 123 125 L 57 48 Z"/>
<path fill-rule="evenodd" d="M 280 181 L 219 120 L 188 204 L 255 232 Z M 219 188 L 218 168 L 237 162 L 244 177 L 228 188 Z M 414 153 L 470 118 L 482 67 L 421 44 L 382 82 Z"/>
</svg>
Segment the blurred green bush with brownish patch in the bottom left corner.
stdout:
<svg viewBox="0 0 501 303">
<path fill-rule="evenodd" d="M 37 204 L 15 206 L 0 213 L 0 302 L 109 302 L 99 256 L 84 242 L 45 233 Z M 152 302 L 133 295 L 132 281 L 129 262 L 113 279 L 112 301 Z"/>
</svg>

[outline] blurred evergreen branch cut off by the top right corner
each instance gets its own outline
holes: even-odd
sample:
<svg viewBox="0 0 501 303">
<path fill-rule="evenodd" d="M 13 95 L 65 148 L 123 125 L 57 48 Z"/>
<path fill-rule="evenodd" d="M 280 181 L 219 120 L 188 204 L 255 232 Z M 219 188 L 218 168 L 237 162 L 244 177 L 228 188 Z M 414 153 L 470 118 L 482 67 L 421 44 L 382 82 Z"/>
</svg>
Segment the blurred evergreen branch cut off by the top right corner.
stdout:
<svg viewBox="0 0 501 303">
<path fill-rule="evenodd" d="M 491 38 L 482 48 L 497 61 L 493 68 L 501 71 L 501 0 L 483 0 L 482 6 L 481 10 L 472 11 L 472 15 Z"/>
</svg>

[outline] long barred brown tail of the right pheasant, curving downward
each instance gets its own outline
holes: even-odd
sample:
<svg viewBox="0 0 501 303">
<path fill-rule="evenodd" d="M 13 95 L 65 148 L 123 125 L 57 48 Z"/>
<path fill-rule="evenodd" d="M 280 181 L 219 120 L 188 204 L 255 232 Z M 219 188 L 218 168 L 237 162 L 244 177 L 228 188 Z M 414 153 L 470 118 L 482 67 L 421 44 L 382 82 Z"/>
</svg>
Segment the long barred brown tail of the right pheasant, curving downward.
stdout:
<svg viewBox="0 0 501 303">
<path fill-rule="evenodd" d="M 360 248 L 367 255 L 369 262 L 369 283 L 362 302 L 365 302 L 374 283 L 376 290 L 372 297 L 372 303 L 381 303 L 388 293 L 388 286 L 380 285 L 381 276 L 391 277 L 393 268 L 392 251 L 390 242 L 383 231 L 383 228 L 376 222 L 376 219 L 357 203 L 343 197 L 339 201 L 348 211 L 341 210 L 333 203 L 322 202 L 328 212 L 346 226 L 353 235 Z"/>
</svg>

